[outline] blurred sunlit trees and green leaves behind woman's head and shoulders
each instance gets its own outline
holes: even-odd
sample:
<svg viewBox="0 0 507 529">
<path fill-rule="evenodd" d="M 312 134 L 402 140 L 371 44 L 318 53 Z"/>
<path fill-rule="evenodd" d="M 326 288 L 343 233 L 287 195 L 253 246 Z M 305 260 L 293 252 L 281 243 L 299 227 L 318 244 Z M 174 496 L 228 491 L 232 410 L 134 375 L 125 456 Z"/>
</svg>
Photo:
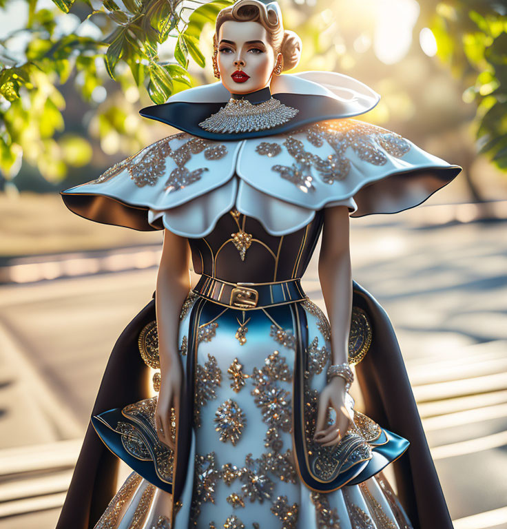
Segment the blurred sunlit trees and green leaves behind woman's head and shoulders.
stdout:
<svg viewBox="0 0 507 529">
<path fill-rule="evenodd" d="M 214 81 L 214 20 L 231 3 L 0 0 L 0 189 L 70 187 L 170 134 L 138 110 Z M 304 43 L 297 70 L 371 85 L 382 100 L 365 119 L 462 165 L 482 200 L 477 152 L 507 169 L 505 2 L 280 5 Z"/>
</svg>

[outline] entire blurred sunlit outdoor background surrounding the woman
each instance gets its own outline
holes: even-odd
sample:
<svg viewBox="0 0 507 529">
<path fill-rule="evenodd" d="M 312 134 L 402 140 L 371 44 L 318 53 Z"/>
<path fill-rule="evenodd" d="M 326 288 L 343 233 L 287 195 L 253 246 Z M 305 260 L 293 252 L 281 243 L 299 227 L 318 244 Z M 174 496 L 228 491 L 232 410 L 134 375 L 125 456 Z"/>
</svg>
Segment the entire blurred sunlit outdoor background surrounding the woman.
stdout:
<svg viewBox="0 0 507 529">
<path fill-rule="evenodd" d="M 56 524 L 107 357 L 155 288 L 161 233 L 83 220 L 59 191 L 174 133 L 138 110 L 214 82 L 229 3 L 0 0 L 1 529 Z M 382 95 L 360 118 L 464 169 L 353 219 L 353 276 L 395 326 L 455 528 L 506 529 L 506 3 L 280 5 L 295 71 L 360 79 Z M 324 309 L 315 259 L 304 288 Z"/>
</svg>

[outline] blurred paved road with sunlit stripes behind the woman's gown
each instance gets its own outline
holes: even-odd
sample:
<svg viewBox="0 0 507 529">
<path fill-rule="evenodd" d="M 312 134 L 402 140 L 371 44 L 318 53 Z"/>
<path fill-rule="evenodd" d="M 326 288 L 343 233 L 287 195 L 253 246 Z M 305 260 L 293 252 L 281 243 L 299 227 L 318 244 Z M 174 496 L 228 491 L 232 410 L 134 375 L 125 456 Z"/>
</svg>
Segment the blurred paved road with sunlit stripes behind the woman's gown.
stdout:
<svg viewBox="0 0 507 529">
<path fill-rule="evenodd" d="M 354 278 L 395 326 L 455 528 L 507 529 L 507 223 L 381 220 L 354 221 Z M 155 275 L 0 287 L 1 529 L 54 528 L 107 355 Z M 315 259 L 304 288 L 322 304 Z"/>
</svg>

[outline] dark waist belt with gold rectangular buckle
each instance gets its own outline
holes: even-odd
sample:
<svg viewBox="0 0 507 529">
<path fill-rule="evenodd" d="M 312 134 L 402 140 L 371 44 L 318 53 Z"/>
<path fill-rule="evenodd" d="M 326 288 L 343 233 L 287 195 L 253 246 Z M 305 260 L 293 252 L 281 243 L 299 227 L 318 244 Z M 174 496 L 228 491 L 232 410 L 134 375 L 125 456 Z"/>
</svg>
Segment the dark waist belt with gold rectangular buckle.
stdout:
<svg viewBox="0 0 507 529">
<path fill-rule="evenodd" d="M 271 283 L 230 283 L 202 275 L 193 290 L 207 300 L 244 310 L 291 303 L 307 297 L 300 278 Z"/>
</svg>

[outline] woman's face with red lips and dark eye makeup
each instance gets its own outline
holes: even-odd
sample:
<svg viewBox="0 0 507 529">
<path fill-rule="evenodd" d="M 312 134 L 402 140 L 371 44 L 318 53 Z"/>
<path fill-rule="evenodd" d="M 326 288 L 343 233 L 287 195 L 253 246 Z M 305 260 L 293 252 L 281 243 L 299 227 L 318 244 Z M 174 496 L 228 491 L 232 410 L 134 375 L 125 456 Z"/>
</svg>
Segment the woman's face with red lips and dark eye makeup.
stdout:
<svg viewBox="0 0 507 529">
<path fill-rule="evenodd" d="M 271 81 L 277 57 L 258 22 L 225 21 L 218 34 L 220 80 L 231 94 L 249 94 Z"/>
</svg>

